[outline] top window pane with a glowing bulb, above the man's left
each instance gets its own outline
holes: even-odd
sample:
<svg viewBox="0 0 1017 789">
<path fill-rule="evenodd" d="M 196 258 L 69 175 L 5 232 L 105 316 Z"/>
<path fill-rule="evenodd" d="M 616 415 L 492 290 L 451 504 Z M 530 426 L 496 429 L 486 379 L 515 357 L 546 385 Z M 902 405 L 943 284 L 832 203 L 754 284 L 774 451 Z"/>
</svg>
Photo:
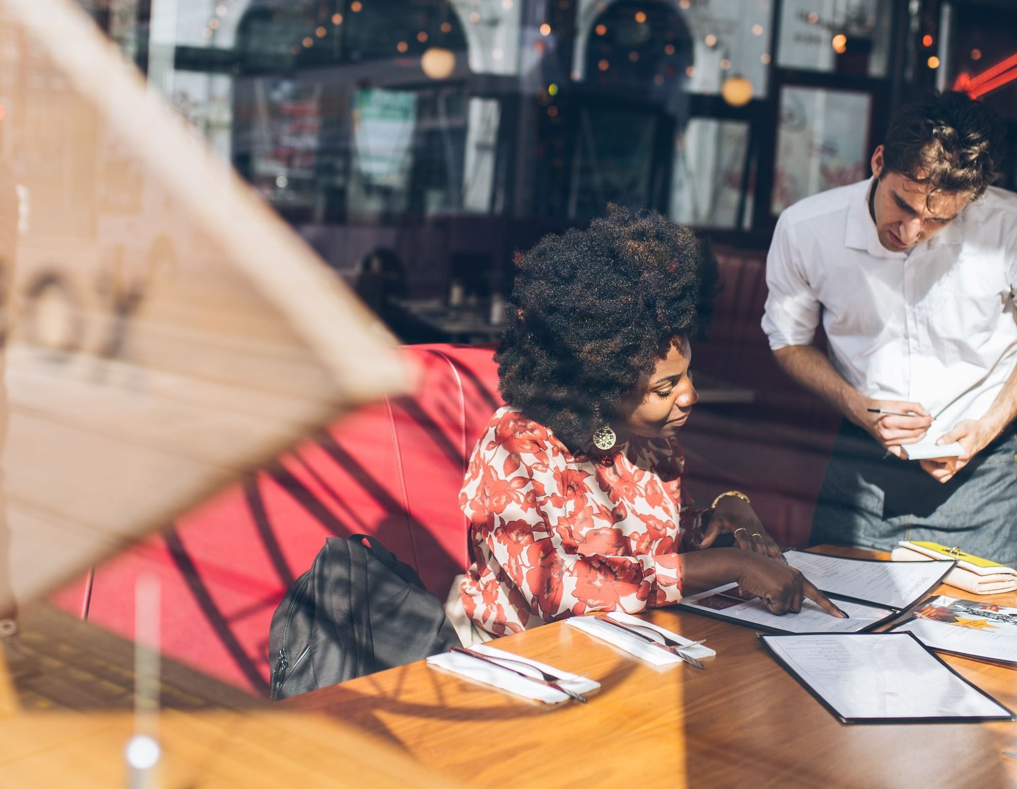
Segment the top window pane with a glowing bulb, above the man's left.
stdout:
<svg viewBox="0 0 1017 789">
<path fill-rule="evenodd" d="M 885 0 L 784 0 L 777 63 L 886 76 L 892 10 Z"/>
</svg>

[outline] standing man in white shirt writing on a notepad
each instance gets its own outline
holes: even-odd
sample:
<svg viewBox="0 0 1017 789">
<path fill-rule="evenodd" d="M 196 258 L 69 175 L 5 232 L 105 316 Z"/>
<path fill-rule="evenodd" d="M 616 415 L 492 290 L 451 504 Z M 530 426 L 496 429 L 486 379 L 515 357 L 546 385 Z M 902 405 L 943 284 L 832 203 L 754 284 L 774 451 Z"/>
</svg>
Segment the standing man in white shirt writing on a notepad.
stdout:
<svg viewBox="0 0 1017 789">
<path fill-rule="evenodd" d="M 932 540 L 1017 560 L 1017 194 L 990 187 L 1003 134 L 965 95 L 931 95 L 894 119 L 871 181 L 777 223 L 763 328 L 845 417 L 814 544 Z M 906 460 L 919 440 L 963 450 Z"/>
</svg>

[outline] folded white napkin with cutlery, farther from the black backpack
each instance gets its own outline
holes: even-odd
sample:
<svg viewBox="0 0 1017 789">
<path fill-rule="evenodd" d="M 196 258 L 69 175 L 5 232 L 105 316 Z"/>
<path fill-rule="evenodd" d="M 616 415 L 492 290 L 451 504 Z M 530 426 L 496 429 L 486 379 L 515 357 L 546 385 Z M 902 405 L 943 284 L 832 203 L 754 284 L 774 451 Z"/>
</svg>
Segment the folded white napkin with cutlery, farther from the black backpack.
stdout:
<svg viewBox="0 0 1017 789">
<path fill-rule="evenodd" d="M 548 687 L 540 682 L 533 682 L 529 679 L 525 679 L 524 677 L 519 676 L 519 674 L 513 672 L 522 671 L 523 673 L 528 673 L 526 666 L 534 666 L 535 668 L 546 671 L 548 674 L 554 674 L 556 677 L 561 677 L 558 684 L 562 687 L 567 687 L 570 690 L 577 693 L 588 693 L 591 690 L 596 690 L 600 687 L 600 682 L 590 679 L 589 677 L 584 677 L 580 674 L 573 674 L 569 671 L 562 671 L 554 666 L 548 666 L 546 663 L 514 655 L 511 652 L 495 649 L 487 644 L 475 644 L 470 649 L 474 652 L 486 655 L 489 658 L 494 658 L 495 660 L 498 658 L 504 659 L 504 668 L 498 668 L 497 666 L 491 665 L 486 661 L 472 658 L 461 652 L 442 652 L 440 655 L 432 655 L 427 659 L 427 664 L 429 666 L 443 668 L 445 671 L 452 671 L 454 674 L 459 674 L 478 682 L 483 682 L 485 685 L 491 685 L 493 687 L 500 688 L 501 690 L 507 690 L 511 693 L 516 693 L 517 695 L 522 695 L 526 699 L 534 699 L 538 702 L 544 702 L 546 704 L 560 704 L 561 702 L 567 702 L 569 696 L 560 690 L 555 690 L 553 687 Z M 535 678 L 540 678 L 536 671 L 530 673 L 532 673 Z"/>
</svg>

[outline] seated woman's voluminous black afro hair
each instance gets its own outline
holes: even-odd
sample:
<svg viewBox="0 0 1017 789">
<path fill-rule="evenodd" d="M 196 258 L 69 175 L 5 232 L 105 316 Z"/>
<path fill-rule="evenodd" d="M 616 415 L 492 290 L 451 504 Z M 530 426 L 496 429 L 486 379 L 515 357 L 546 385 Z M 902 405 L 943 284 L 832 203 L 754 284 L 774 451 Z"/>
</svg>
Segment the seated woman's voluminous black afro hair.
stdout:
<svg viewBox="0 0 1017 789">
<path fill-rule="evenodd" d="M 572 451 L 675 339 L 705 338 L 720 291 L 709 245 L 654 210 L 609 206 L 587 230 L 545 236 L 517 265 L 499 388 Z"/>
</svg>

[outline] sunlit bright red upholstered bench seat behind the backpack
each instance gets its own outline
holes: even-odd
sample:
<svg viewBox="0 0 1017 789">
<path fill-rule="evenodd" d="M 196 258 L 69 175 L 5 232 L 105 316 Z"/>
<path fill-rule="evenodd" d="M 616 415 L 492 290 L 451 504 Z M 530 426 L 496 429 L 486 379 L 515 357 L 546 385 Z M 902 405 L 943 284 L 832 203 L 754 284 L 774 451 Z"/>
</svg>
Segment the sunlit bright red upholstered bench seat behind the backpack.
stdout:
<svg viewBox="0 0 1017 789">
<path fill-rule="evenodd" d="M 130 639 L 134 582 L 162 588 L 165 655 L 257 693 L 268 687 L 272 614 L 331 535 L 377 536 L 442 600 L 466 567 L 466 463 L 501 405 L 490 349 L 413 346 L 411 397 L 337 421 L 277 463 L 56 595 Z"/>
</svg>

